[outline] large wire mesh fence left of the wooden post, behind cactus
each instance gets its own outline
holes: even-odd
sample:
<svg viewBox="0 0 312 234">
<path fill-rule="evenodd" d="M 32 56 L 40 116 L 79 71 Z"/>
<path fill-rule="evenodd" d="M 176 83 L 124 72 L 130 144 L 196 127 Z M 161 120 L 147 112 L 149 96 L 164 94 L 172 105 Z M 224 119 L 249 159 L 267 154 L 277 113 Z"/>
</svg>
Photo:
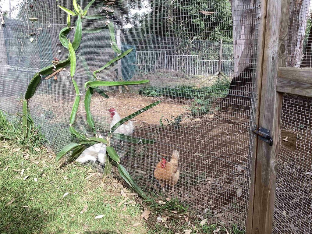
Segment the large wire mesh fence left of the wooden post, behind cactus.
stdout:
<svg viewBox="0 0 312 234">
<path fill-rule="evenodd" d="M 87 3 L 79 1 L 82 8 Z M 57 4 L 72 9 L 71 1 Z M 93 79 L 93 71 L 115 57 L 102 6 L 103 2 L 95 1 L 90 7 L 89 14 L 102 14 L 103 19 L 83 21 L 82 41 L 76 52 L 75 80 L 82 101 L 75 127 L 87 136 L 92 136 L 92 131 L 85 120 L 83 85 Z M 245 230 L 254 140 L 250 130 L 257 99 L 260 2 L 116 1 L 112 9 L 109 20 L 114 23 L 121 50 L 134 50 L 110 70 L 99 73 L 99 78 L 150 82 L 129 86 L 129 90 L 123 87 L 122 93 L 115 87 L 96 90 L 91 112 L 98 134 L 106 136 L 109 131 L 110 108 L 125 117 L 161 100 L 133 119 L 132 135 L 153 139 L 155 144 L 112 142 L 122 164 L 144 191 L 162 195 L 159 175 L 154 172 L 161 158 L 168 162 L 177 150 L 178 165 L 172 167 L 180 172 L 178 181 L 169 194 L 171 186 L 165 186 L 164 195 L 178 197 L 209 222 L 234 224 Z M 38 20 L 32 23 L 29 17 Z M 0 109 L 20 113 L 20 100 L 35 72 L 54 58 L 67 58 L 68 51 L 58 40 L 66 17 L 51 0 L 23 1 L 11 17 L 5 17 L 0 35 L 4 44 L 0 48 Z M 72 41 L 73 34 L 69 37 Z M 109 99 L 103 97 L 104 92 Z M 74 98 L 67 68 L 57 79 L 42 78 L 29 101 L 35 123 L 55 152 L 75 141 L 68 130 Z M 98 161 L 94 165 L 103 169 Z"/>
</svg>

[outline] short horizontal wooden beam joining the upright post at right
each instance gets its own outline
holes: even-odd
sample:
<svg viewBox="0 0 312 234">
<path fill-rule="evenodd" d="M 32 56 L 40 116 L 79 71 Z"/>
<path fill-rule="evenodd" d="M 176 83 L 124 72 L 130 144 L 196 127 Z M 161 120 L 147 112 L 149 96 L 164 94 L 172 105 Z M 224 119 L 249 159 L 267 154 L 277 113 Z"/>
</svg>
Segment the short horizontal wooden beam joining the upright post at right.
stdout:
<svg viewBox="0 0 312 234">
<path fill-rule="evenodd" d="M 276 91 L 312 97 L 312 68 L 279 67 Z"/>
</svg>

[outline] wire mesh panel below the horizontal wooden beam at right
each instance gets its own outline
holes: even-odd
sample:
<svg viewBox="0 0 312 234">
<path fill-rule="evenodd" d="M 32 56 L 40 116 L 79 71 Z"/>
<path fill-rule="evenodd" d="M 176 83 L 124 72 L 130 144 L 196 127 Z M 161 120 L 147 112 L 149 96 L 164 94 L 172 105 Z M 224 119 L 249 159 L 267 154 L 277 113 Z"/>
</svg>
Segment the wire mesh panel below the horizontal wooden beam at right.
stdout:
<svg viewBox="0 0 312 234">
<path fill-rule="evenodd" d="M 283 97 L 273 233 L 312 232 L 311 101 Z"/>
</svg>

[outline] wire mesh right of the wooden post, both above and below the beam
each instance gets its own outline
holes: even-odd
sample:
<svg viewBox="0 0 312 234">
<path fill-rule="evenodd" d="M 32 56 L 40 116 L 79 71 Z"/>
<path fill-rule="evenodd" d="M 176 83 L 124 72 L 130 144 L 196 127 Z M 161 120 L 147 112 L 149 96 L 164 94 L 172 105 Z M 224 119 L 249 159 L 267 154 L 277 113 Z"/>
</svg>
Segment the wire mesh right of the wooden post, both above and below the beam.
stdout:
<svg viewBox="0 0 312 234">
<path fill-rule="evenodd" d="M 312 67 L 312 2 L 290 1 L 286 66 Z M 311 98 L 284 94 L 273 233 L 312 232 Z"/>
</svg>

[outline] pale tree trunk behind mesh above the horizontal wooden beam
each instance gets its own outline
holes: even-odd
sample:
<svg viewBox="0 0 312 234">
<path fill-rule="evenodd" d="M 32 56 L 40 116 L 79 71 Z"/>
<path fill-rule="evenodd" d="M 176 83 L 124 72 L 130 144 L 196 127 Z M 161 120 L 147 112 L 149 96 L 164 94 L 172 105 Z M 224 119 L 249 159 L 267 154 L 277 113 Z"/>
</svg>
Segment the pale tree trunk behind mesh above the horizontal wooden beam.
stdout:
<svg viewBox="0 0 312 234">
<path fill-rule="evenodd" d="M 290 1 L 290 22 L 288 36 L 288 54 L 286 64 L 290 67 L 300 67 L 305 30 L 309 17 L 310 0 Z"/>
</svg>

